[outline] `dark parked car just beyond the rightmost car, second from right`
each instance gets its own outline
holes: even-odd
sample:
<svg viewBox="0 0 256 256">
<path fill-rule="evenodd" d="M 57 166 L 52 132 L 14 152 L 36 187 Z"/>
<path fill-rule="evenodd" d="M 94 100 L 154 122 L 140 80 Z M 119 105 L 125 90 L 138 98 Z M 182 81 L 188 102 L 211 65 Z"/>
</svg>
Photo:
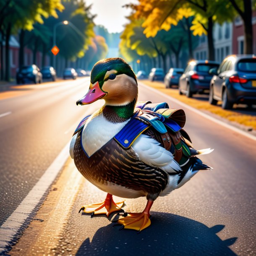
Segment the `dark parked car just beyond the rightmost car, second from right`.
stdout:
<svg viewBox="0 0 256 256">
<path fill-rule="evenodd" d="M 209 91 L 212 74 L 209 70 L 218 68 L 219 63 L 210 60 L 192 60 L 179 80 L 179 94 L 191 98 L 193 94 Z"/>
</svg>

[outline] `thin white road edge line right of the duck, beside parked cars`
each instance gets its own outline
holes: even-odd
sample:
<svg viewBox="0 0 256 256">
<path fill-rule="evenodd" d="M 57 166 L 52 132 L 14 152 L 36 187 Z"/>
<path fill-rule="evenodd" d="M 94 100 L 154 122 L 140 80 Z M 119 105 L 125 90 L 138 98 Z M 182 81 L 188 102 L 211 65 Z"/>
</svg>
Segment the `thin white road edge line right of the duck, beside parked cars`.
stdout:
<svg viewBox="0 0 256 256">
<path fill-rule="evenodd" d="M 229 124 L 227 124 L 225 122 L 222 122 L 222 121 L 220 121 L 220 120 L 218 120 L 216 118 L 213 118 L 212 116 L 207 115 L 204 112 L 201 112 L 200 110 L 197 110 L 196 108 L 191 107 L 191 106 L 189 106 L 189 105 L 187 105 L 187 104 L 185 104 L 183 102 L 180 102 L 178 99 L 175 99 L 175 98 L 173 98 L 173 97 L 171 97 L 169 95 L 166 95 L 166 94 L 162 93 L 161 91 L 157 91 L 156 89 L 154 89 L 154 88 L 152 88 L 150 86 L 146 86 L 146 85 L 144 85 L 142 83 L 139 83 L 139 85 L 144 87 L 145 89 L 149 89 L 149 90 L 153 91 L 154 93 L 158 93 L 158 94 L 162 95 L 163 97 L 170 99 L 172 102 L 175 102 L 177 104 L 180 104 L 183 107 L 186 107 L 187 109 L 189 109 L 189 110 L 191 110 L 191 111 L 193 111 L 193 112 L 203 116 L 204 118 L 207 118 L 207 119 L 209 119 L 209 120 L 211 120 L 211 121 L 213 121 L 213 122 L 215 122 L 215 123 L 217 123 L 219 125 L 222 125 L 222 126 L 228 128 L 228 129 L 232 130 L 232 131 L 240 133 L 241 135 L 246 136 L 246 137 L 256 141 L 256 136 L 253 136 L 253 135 L 251 135 L 249 133 L 246 133 L 245 131 L 242 131 L 242 130 L 232 126 L 232 125 L 229 125 Z"/>
</svg>

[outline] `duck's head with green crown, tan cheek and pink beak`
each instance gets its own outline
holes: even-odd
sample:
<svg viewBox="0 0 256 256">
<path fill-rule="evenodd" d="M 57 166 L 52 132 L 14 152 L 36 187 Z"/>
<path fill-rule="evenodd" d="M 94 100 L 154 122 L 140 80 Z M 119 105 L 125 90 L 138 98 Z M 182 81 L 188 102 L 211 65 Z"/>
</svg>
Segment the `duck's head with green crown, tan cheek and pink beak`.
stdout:
<svg viewBox="0 0 256 256">
<path fill-rule="evenodd" d="M 106 105 L 118 106 L 136 102 L 137 97 L 137 79 L 130 65 L 121 58 L 107 58 L 94 65 L 90 89 L 76 104 L 90 104 L 104 98 Z"/>
</svg>

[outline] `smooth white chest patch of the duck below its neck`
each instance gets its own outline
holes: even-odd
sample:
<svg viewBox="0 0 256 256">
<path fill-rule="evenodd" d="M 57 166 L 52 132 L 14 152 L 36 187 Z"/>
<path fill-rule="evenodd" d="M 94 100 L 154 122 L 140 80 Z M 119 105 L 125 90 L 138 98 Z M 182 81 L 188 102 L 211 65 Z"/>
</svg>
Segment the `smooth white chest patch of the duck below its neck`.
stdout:
<svg viewBox="0 0 256 256">
<path fill-rule="evenodd" d="M 90 157 L 112 139 L 128 123 L 111 123 L 103 114 L 91 115 L 84 125 L 82 132 L 82 145 L 86 154 Z"/>
</svg>

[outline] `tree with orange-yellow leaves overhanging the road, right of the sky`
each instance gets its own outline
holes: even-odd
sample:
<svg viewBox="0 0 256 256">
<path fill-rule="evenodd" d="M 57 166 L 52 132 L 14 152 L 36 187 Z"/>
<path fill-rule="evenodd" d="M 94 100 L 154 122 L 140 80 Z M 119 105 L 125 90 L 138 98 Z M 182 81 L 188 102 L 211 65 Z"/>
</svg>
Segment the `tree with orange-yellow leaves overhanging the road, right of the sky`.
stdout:
<svg viewBox="0 0 256 256">
<path fill-rule="evenodd" d="M 139 0 L 137 5 L 128 5 L 135 18 L 145 18 L 142 26 L 146 37 L 154 37 L 161 29 L 170 30 L 181 19 L 192 17 L 193 35 L 206 34 L 208 37 L 209 59 L 214 60 L 213 25 L 231 20 L 231 4 L 226 0 Z"/>
</svg>

